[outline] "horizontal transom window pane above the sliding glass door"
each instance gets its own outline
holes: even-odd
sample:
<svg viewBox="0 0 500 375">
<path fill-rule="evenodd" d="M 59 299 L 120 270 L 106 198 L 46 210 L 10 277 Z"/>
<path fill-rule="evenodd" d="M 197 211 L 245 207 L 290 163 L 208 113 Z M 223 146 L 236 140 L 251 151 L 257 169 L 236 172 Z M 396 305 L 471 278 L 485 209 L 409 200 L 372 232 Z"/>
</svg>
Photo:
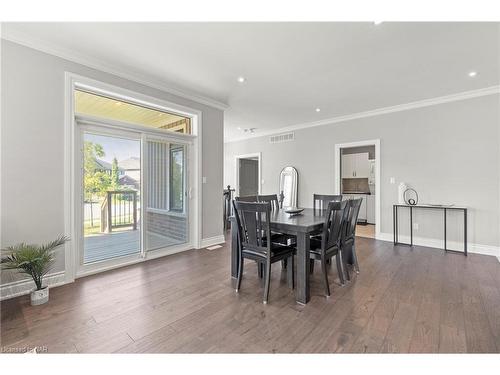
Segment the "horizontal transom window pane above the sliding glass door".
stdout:
<svg viewBox="0 0 500 375">
<path fill-rule="evenodd" d="M 86 91 L 75 90 L 76 113 L 191 134 L 191 119 Z"/>
</svg>

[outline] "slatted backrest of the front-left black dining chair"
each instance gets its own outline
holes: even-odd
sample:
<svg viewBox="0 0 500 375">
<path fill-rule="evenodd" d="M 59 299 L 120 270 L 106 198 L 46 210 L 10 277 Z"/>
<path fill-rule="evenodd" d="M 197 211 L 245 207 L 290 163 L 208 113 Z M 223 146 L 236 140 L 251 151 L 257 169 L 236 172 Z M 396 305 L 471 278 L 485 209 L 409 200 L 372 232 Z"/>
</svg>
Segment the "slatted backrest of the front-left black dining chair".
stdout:
<svg viewBox="0 0 500 375">
<path fill-rule="evenodd" d="M 258 251 L 270 257 L 270 204 L 233 201 L 233 205 L 242 250 Z"/>
</svg>

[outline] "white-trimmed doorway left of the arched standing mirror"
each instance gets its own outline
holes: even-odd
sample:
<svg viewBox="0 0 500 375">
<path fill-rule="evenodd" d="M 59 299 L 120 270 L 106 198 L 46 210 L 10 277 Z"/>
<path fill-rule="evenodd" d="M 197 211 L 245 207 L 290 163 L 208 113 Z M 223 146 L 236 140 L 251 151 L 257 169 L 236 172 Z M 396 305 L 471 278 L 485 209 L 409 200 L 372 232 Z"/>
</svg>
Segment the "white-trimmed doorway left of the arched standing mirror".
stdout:
<svg viewBox="0 0 500 375">
<path fill-rule="evenodd" d="M 236 196 L 260 194 L 260 153 L 236 157 Z"/>
</svg>

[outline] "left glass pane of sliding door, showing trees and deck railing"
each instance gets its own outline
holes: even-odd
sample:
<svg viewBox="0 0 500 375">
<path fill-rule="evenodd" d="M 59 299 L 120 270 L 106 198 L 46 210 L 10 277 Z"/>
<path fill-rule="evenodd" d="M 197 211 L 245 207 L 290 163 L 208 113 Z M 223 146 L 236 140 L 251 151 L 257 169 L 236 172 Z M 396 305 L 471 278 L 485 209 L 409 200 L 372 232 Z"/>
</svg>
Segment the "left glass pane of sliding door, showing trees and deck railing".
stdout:
<svg viewBox="0 0 500 375">
<path fill-rule="evenodd" d="M 141 251 L 140 141 L 84 133 L 83 263 Z"/>
</svg>

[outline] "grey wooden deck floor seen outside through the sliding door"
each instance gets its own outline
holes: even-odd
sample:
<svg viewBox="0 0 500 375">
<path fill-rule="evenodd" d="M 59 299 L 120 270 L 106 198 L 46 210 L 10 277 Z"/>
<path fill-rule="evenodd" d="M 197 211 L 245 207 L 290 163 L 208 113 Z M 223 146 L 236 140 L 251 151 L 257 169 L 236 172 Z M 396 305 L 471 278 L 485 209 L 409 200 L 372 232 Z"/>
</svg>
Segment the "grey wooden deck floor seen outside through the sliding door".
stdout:
<svg viewBox="0 0 500 375">
<path fill-rule="evenodd" d="M 176 239 L 151 232 L 147 233 L 146 241 L 149 249 L 181 243 Z M 124 230 L 87 236 L 84 239 L 84 248 L 85 263 L 136 254 L 141 250 L 141 232 L 140 230 Z"/>
</svg>

